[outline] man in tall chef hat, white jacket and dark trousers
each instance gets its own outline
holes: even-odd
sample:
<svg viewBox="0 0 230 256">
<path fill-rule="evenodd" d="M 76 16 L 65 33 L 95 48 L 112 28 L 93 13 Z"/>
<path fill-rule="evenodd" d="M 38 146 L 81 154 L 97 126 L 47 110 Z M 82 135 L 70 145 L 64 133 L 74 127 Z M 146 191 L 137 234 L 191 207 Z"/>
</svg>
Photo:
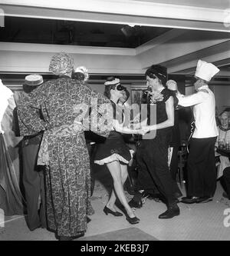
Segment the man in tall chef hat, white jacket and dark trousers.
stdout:
<svg viewBox="0 0 230 256">
<path fill-rule="evenodd" d="M 188 191 L 182 203 L 212 201 L 216 187 L 215 141 L 218 129 L 215 122 L 215 95 L 209 89 L 209 81 L 219 69 L 212 63 L 199 60 L 195 71 L 193 95 L 177 94 L 178 105 L 193 106 L 195 130 L 193 132 L 187 162 Z"/>
</svg>

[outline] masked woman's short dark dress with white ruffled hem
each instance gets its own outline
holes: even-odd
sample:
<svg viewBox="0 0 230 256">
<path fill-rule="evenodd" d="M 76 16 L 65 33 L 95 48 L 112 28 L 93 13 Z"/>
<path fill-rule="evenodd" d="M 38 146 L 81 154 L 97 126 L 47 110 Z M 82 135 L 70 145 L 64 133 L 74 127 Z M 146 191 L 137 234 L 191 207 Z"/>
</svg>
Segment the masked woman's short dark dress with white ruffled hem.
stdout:
<svg viewBox="0 0 230 256">
<path fill-rule="evenodd" d="M 113 118 L 119 122 L 123 121 L 123 113 L 113 101 Z M 110 131 L 110 135 L 106 141 L 98 145 L 97 152 L 94 157 L 94 162 L 97 165 L 104 165 L 112 161 L 120 161 L 128 164 L 132 158 L 133 150 L 126 145 L 123 136 L 118 131 Z"/>
</svg>

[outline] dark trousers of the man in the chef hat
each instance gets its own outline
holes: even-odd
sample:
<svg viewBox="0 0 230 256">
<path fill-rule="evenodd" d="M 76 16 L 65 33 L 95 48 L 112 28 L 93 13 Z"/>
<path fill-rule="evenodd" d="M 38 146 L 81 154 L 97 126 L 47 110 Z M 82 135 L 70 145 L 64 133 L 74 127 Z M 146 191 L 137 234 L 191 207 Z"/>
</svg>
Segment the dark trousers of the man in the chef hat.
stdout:
<svg viewBox="0 0 230 256">
<path fill-rule="evenodd" d="M 215 141 L 212 138 L 192 138 L 187 163 L 188 196 L 212 197 L 216 187 Z"/>
</svg>

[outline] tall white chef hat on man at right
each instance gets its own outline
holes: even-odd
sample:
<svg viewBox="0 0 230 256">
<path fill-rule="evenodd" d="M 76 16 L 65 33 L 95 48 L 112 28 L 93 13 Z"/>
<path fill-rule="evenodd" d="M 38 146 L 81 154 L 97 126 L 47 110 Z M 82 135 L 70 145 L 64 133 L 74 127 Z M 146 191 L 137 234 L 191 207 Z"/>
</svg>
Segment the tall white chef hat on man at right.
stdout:
<svg viewBox="0 0 230 256">
<path fill-rule="evenodd" d="M 212 63 L 204 62 L 199 59 L 196 66 L 195 76 L 205 81 L 210 81 L 217 74 L 219 69 Z"/>
</svg>

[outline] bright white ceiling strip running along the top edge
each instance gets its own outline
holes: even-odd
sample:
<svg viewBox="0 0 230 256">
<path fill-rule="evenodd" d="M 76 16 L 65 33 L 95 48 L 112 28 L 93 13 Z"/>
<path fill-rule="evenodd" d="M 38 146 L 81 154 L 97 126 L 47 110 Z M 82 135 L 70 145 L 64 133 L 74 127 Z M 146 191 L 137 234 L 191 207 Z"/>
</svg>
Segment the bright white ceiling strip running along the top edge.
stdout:
<svg viewBox="0 0 230 256">
<path fill-rule="evenodd" d="M 1 0 L 1 4 L 206 22 L 223 22 L 225 11 L 216 8 L 169 5 L 131 0 L 39 0 L 36 2 L 32 0 Z"/>
</svg>

